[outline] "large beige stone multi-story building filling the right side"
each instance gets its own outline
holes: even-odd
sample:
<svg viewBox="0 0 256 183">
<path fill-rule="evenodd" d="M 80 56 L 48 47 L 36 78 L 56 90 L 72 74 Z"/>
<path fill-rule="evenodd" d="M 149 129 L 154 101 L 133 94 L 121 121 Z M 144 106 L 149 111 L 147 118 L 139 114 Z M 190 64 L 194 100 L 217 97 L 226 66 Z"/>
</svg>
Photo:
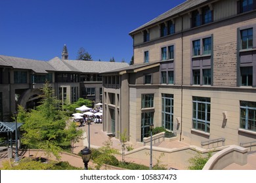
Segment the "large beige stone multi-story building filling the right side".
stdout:
<svg viewBox="0 0 256 183">
<path fill-rule="evenodd" d="M 104 131 L 141 142 L 154 123 L 197 146 L 255 141 L 256 1 L 188 0 L 129 35 L 135 64 L 103 73 Z"/>
</svg>

